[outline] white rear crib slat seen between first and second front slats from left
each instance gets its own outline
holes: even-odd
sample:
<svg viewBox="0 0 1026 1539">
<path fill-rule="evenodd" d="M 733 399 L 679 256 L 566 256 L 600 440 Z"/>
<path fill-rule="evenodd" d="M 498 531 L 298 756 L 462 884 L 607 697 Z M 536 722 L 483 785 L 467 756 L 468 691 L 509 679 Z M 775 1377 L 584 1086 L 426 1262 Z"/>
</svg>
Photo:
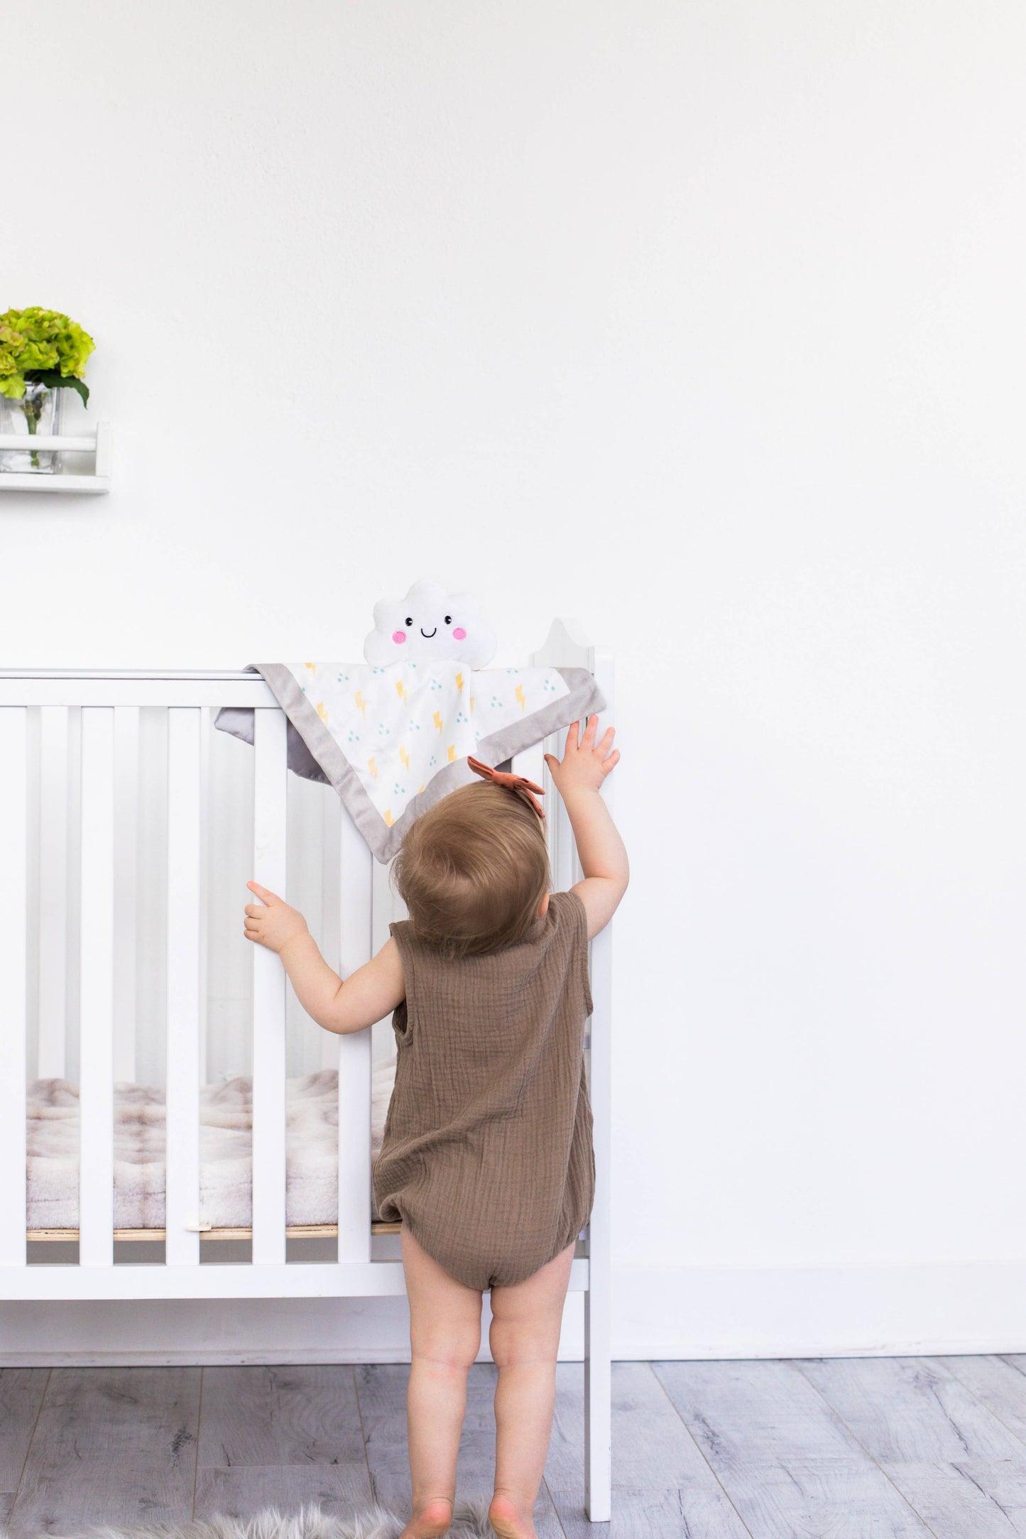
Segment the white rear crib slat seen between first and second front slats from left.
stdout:
<svg viewBox="0 0 1026 1539">
<path fill-rule="evenodd" d="M 63 1079 L 68 1031 L 68 706 L 40 708 L 38 1074 Z"/>
</svg>

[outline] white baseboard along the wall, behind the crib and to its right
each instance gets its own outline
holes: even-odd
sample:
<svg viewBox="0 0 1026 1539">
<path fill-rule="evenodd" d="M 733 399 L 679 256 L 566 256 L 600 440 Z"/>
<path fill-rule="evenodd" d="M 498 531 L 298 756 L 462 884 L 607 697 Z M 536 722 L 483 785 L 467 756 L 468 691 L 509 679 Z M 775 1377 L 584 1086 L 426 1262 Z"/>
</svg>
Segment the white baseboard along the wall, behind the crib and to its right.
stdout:
<svg viewBox="0 0 1026 1539">
<path fill-rule="evenodd" d="M 408 1362 L 405 1299 L 0 1304 L 0 1367 Z M 1026 1351 L 1026 1260 L 620 1267 L 615 1359 Z M 560 1357 L 583 1354 L 583 1299 Z M 485 1344 L 488 1360 L 488 1308 Z"/>
</svg>

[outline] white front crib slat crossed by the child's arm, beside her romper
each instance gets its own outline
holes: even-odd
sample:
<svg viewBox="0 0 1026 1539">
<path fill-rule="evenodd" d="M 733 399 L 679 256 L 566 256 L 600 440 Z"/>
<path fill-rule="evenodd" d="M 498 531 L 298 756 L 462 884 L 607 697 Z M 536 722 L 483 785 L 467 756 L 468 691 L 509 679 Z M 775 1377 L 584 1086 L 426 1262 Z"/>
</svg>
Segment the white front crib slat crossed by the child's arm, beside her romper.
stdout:
<svg viewBox="0 0 1026 1539">
<path fill-rule="evenodd" d="M 340 974 L 371 957 L 374 857 L 346 811 L 338 834 Z M 371 1259 L 371 1033 L 338 1037 L 338 1260 Z"/>
</svg>

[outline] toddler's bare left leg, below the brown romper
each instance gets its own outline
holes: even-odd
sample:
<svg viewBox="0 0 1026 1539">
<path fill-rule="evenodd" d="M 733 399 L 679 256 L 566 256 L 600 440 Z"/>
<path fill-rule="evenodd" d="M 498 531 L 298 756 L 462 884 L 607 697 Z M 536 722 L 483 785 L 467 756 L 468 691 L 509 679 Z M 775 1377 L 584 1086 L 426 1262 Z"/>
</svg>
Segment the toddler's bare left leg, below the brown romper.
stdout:
<svg viewBox="0 0 1026 1539">
<path fill-rule="evenodd" d="M 412 1517 L 400 1539 L 435 1539 L 452 1521 L 466 1374 L 481 1345 L 481 1296 L 457 1282 L 401 1230 L 409 1299 L 406 1391 Z"/>
</svg>

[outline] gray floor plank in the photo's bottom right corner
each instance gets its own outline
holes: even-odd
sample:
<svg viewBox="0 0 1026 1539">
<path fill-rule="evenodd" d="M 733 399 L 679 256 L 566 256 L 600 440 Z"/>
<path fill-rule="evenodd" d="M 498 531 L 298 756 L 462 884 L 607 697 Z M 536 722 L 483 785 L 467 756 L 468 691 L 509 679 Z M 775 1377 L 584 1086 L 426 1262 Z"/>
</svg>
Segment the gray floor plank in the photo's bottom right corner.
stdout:
<svg viewBox="0 0 1026 1539">
<path fill-rule="evenodd" d="M 1026 1461 L 888 1464 L 884 1468 L 937 1539 L 1026 1536 Z"/>
</svg>

